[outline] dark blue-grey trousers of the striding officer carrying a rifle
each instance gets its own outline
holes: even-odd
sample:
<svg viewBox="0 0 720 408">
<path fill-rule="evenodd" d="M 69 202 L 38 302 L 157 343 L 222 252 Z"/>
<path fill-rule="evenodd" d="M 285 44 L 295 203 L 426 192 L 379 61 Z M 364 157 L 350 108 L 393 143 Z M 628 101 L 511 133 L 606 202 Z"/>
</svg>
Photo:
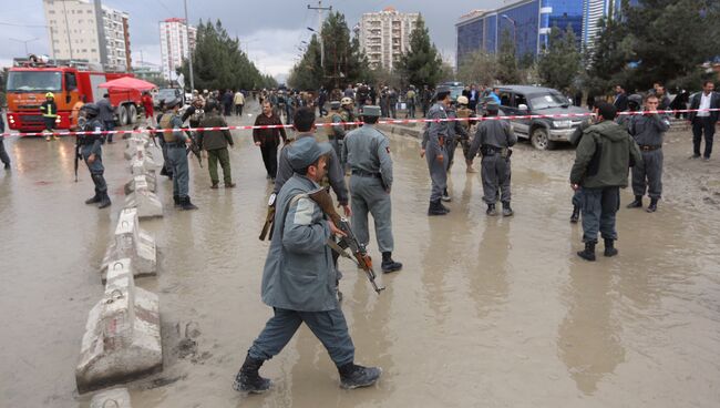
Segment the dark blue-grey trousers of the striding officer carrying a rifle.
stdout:
<svg viewBox="0 0 720 408">
<path fill-rule="evenodd" d="M 250 357 L 268 360 L 277 356 L 290 343 L 300 324 L 308 325 L 322 343 L 336 366 L 354 360 L 354 345 L 348 332 L 344 315 L 338 308 L 328 312 L 298 312 L 274 308 L 275 316 L 265 324 L 260 335 L 248 350 Z"/>
</svg>

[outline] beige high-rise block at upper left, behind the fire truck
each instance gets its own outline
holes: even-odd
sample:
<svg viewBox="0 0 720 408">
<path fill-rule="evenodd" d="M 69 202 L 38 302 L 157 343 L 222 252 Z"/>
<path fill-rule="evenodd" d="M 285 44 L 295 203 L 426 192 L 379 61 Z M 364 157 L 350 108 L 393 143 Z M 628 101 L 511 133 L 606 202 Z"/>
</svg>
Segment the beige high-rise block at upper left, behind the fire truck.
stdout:
<svg viewBox="0 0 720 408">
<path fill-rule="evenodd" d="M 43 0 L 51 57 L 88 60 L 105 69 L 132 65 L 128 14 L 100 0 Z"/>
</svg>

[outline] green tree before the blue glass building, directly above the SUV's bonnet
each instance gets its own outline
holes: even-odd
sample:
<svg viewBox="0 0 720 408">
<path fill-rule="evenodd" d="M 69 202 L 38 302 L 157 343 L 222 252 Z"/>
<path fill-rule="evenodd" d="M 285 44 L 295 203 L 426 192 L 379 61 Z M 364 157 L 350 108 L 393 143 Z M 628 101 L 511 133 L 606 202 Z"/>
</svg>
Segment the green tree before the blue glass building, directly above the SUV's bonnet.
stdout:
<svg viewBox="0 0 720 408">
<path fill-rule="evenodd" d="M 551 29 L 547 49 L 537 62 L 543 84 L 557 90 L 569 89 L 580 71 L 582 55 L 577 38 L 570 27 L 565 33 L 557 27 Z"/>
</svg>

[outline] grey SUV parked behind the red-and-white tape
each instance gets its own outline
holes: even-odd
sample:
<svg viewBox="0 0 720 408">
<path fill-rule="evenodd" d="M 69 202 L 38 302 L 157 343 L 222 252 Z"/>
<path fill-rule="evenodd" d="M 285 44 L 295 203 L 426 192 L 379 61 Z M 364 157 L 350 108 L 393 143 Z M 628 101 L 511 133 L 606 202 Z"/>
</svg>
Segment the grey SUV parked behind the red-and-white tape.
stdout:
<svg viewBox="0 0 720 408">
<path fill-rule="evenodd" d="M 551 88 L 503 85 L 500 89 L 501 109 L 507 115 L 587 114 L 574 106 L 559 91 Z M 551 150 L 557 142 L 568 142 L 585 118 L 513 119 L 513 130 L 518 137 L 529 139 L 537 150 Z"/>
</svg>

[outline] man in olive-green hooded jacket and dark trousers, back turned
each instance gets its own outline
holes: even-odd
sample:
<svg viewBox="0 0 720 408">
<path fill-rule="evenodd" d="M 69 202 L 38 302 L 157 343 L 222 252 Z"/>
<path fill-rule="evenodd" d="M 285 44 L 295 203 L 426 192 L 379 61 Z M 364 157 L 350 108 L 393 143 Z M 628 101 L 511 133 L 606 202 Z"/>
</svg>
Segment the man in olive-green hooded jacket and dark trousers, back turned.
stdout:
<svg viewBox="0 0 720 408">
<path fill-rule="evenodd" d="M 615 214 L 620 187 L 627 187 L 628 163 L 642 169 L 642 155 L 627 131 L 615 123 L 617 111 L 607 102 L 595 105 L 596 124 L 583 131 L 570 172 L 570 186 L 583 188 L 583 242 L 577 255 L 595 261 L 598 231 L 605 241 L 605 256 L 615 256 Z"/>
</svg>

